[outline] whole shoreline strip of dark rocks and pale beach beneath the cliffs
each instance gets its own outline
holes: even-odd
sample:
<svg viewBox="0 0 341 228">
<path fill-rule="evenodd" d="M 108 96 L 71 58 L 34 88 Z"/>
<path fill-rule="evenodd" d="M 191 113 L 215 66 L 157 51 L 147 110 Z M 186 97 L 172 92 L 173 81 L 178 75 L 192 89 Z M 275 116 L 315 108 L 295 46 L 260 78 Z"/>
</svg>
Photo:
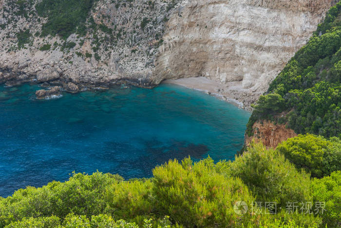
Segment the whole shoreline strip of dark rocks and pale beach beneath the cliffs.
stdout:
<svg viewBox="0 0 341 228">
<path fill-rule="evenodd" d="M 113 85 L 130 84 L 142 88 L 153 88 L 159 84 L 152 84 L 152 82 L 139 81 L 132 79 L 112 79 L 107 82 L 74 82 L 64 78 L 63 75 L 57 79 L 46 79 L 44 81 L 38 81 L 37 75 L 34 74 L 22 74 L 22 72 L 13 72 L 11 69 L 0 68 L 0 84 L 5 86 L 18 86 L 23 83 L 37 83 L 41 84 L 43 88 L 49 88 L 51 86 L 61 86 L 66 92 L 82 92 L 90 89 L 109 89 Z M 77 87 L 76 91 L 69 90 L 69 84 Z M 191 77 L 180 79 L 168 79 L 162 81 L 160 84 L 175 84 L 183 86 L 189 89 L 205 92 L 208 95 L 214 96 L 220 100 L 226 101 L 234 106 L 244 109 L 247 112 L 252 112 L 251 105 L 253 103 L 253 96 L 250 96 L 250 92 L 242 87 L 241 82 L 229 82 L 228 84 L 222 84 L 218 81 L 213 81 L 206 77 Z M 250 99 L 251 98 L 251 99 Z"/>
</svg>

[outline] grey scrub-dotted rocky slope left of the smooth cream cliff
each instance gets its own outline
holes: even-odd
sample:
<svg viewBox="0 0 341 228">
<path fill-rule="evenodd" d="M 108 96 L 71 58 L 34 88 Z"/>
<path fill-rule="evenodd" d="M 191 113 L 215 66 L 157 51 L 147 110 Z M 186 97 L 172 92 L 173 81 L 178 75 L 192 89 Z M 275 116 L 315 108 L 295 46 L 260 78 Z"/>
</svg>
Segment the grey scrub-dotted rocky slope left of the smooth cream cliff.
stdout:
<svg viewBox="0 0 341 228">
<path fill-rule="evenodd" d="M 85 36 L 72 34 L 66 40 L 39 36 L 47 21 L 38 16 L 40 1 L 23 1 L 25 13 L 20 13 L 16 1 L 0 0 L 0 69 L 24 74 L 28 81 L 57 71 L 55 83 L 81 87 L 108 86 L 120 80 L 154 85 L 152 71 L 164 25 L 180 0 L 97 0 L 87 20 L 91 29 Z M 29 33 L 19 44 L 22 31 Z M 51 47 L 44 50 L 46 45 Z"/>
</svg>

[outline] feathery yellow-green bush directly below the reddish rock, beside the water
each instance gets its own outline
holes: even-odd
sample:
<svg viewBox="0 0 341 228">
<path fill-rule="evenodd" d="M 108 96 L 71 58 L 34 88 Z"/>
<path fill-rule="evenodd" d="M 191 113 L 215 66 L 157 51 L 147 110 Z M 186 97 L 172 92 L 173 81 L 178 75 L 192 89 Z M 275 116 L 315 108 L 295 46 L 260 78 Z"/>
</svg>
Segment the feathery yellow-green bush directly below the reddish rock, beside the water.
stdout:
<svg viewBox="0 0 341 228">
<path fill-rule="evenodd" d="M 311 200 L 310 176 L 299 172 L 284 156 L 262 144 L 251 145 L 230 164 L 230 175 L 239 177 L 261 202 L 277 202 L 285 208 L 287 202 Z"/>
</svg>

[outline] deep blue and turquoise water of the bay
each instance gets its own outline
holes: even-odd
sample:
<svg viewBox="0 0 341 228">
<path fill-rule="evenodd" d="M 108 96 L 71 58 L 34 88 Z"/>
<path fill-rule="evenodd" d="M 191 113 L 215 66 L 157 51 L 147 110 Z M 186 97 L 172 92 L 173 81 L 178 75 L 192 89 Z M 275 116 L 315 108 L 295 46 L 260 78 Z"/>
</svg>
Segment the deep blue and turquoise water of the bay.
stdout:
<svg viewBox="0 0 341 228">
<path fill-rule="evenodd" d="M 200 91 L 163 84 L 64 93 L 0 85 L 0 196 L 65 181 L 72 171 L 151 177 L 169 159 L 232 160 L 250 114 Z"/>
</svg>

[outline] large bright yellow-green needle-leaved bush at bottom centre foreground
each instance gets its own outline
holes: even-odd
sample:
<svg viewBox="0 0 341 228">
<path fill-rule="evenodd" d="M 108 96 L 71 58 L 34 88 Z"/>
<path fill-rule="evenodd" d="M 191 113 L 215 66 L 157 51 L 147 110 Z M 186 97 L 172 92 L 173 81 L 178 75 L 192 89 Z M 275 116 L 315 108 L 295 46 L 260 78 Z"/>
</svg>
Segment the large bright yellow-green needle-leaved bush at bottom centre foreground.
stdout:
<svg viewBox="0 0 341 228">
<path fill-rule="evenodd" d="M 237 215 L 233 204 L 253 201 L 238 178 L 225 177 L 205 162 L 176 160 L 153 170 L 153 195 L 159 213 L 185 227 L 239 227 L 249 214 Z"/>
</svg>

